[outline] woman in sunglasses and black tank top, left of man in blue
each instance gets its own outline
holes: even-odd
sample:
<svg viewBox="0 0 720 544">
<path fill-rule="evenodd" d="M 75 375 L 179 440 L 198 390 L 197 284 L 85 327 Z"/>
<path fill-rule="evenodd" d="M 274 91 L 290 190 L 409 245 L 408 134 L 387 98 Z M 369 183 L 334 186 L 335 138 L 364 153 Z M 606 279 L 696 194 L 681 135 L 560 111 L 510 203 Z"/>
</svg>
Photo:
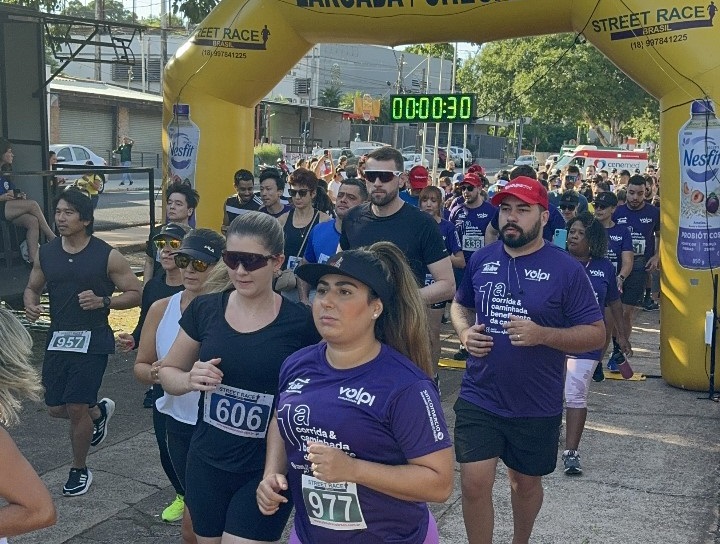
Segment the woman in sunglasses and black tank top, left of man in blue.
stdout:
<svg viewBox="0 0 720 544">
<path fill-rule="evenodd" d="M 318 178 L 310 170 L 298 168 L 290 175 L 288 193 L 293 209 L 278 219 L 285 235 L 283 252 L 286 257 L 280 270 L 295 270 L 305 254 L 310 229 L 330 220 L 330 216 L 313 206 L 317 186 Z M 283 290 L 282 294 L 295 302 L 299 300 L 297 285 Z"/>
</svg>

